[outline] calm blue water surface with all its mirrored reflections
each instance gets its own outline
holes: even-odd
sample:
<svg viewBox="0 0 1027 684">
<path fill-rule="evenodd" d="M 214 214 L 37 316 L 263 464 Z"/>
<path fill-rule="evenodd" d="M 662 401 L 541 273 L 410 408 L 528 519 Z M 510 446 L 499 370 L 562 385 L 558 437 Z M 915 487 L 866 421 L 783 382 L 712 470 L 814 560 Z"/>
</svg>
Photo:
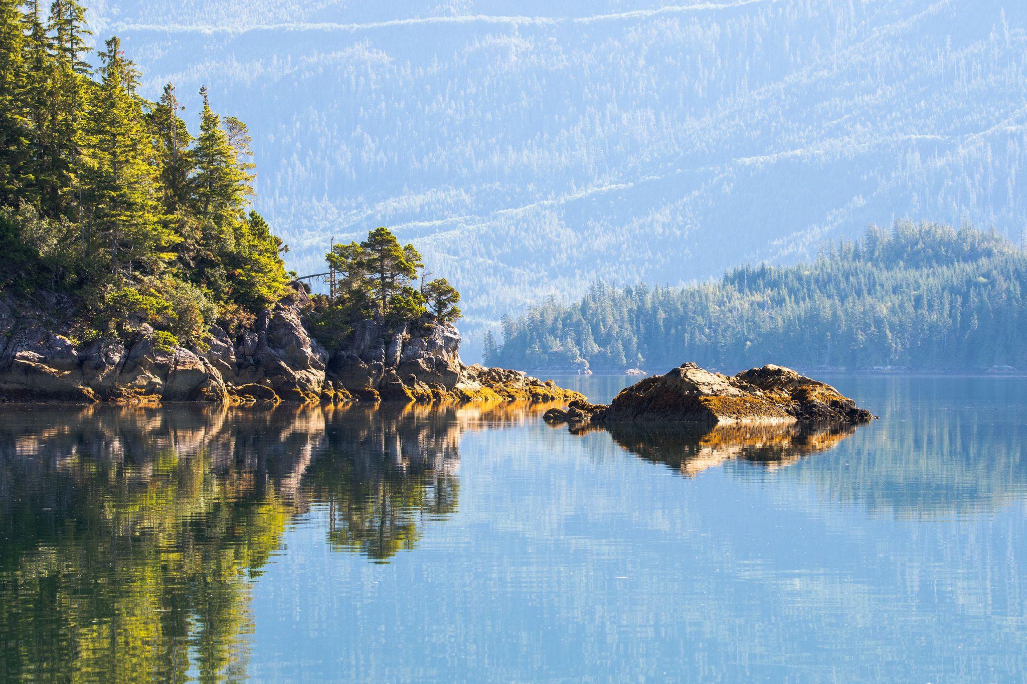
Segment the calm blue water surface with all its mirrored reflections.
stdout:
<svg viewBox="0 0 1027 684">
<path fill-rule="evenodd" d="M 0 407 L 0 680 L 1022 679 L 1027 380 L 831 379 L 881 419 Z"/>
</svg>

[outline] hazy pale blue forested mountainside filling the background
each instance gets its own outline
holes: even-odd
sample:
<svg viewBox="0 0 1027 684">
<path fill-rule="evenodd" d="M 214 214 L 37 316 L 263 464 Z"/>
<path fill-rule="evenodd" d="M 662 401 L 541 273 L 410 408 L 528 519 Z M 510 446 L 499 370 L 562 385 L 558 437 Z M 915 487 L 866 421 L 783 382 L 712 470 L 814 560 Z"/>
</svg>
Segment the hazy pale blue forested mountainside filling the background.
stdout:
<svg viewBox="0 0 1027 684">
<path fill-rule="evenodd" d="M 319 270 L 376 226 L 471 331 L 596 279 L 679 284 L 910 217 L 1027 226 L 1013 0 L 112 1 L 143 94 L 254 133 L 258 208 Z"/>
</svg>

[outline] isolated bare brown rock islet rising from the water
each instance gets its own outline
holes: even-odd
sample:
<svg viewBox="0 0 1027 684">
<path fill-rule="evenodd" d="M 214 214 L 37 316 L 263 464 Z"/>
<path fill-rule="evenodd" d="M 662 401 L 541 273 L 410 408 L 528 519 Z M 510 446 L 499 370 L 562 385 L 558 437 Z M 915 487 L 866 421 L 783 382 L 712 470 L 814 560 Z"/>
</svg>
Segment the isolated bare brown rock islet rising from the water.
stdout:
<svg viewBox="0 0 1027 684">
<path fill-rule="evenodd" d="M 763 366 L 734 376 L 686 363 L 623 390 L 608 406 L 572 402 L 550 409 L 547 423 L 789 425 L 859 424 L 874 416 L 830 385 L 782 366 Z"/>
</svg>

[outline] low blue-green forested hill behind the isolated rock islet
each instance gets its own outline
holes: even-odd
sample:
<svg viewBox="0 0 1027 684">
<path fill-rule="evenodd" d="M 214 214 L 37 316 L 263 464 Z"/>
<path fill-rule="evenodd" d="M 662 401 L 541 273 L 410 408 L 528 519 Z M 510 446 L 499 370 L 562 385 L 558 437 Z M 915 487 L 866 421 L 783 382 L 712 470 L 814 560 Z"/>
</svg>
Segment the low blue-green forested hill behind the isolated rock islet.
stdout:
<svg viewBox="0 0 1027 684">
<path fill-rule="evenodd" d="M 515 368 L 980 371 L 1027 368 L 1027 252 L 995 231 L 897 223 L 811 264 L 744 266 L 688 287 L 597 283 L 503 320 L 486 362 Z"/>
</svg>

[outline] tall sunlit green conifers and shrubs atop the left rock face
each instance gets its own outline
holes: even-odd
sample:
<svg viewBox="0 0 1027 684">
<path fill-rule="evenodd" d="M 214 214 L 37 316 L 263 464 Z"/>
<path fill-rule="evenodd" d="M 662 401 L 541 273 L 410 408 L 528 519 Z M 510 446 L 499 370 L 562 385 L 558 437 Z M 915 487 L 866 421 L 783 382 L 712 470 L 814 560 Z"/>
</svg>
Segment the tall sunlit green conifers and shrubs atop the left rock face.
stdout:
<svg viewBox="0 0 1027 684">
<path fill-rule="evenodd" d="M 72 297 L 83 339 L 152 327 L 203 344 L 280 298 L 284 250 L 250 208 L 251 136 L 205 89 L 198 133 L 117 38 L 88 61 L 84 10 L 0 0 L 0 291 Z"/>
</svg>

